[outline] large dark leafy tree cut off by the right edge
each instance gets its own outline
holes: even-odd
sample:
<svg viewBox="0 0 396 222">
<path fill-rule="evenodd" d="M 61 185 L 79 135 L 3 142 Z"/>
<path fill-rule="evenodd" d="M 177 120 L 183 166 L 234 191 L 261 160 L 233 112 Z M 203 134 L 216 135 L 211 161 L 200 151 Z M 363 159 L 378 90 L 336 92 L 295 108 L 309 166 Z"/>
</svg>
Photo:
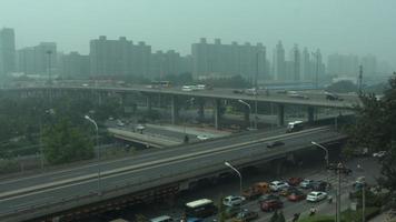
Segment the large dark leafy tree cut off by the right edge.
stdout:
<svg viewBox="0 0 396 222">
<path fill-rule="evenodd" d="M 384 186 L 396 191 L 396 72 L 389 79 L 389 89 L 378 100 L 375 94 L 362 97 L 363 107 L 357 109 L 357 122 L 347 129 L 350 140 L 347 149 L 368 148 L 387 151 L 382 160 Z"/>
</svg>

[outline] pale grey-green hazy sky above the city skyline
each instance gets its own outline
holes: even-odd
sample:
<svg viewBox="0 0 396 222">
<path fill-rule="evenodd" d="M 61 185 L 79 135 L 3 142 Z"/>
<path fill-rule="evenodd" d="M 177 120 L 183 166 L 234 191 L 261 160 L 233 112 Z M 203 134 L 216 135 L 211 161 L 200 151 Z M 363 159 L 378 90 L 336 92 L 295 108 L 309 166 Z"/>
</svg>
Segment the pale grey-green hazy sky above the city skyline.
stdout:
<svg viewBox="0 0 396 222">
<path fill-rule="evenodd" d="M 0 27 L 16 29 L 17 48 L 56 41 L 89 51 L 89 40 L 126 36 L 154 50 L 190 52 L 200 37 L 263 42 L 273 51 L 320 48 L 373 53 L 395 64 L 396 0 L 0 0 Z"/>
</svg>

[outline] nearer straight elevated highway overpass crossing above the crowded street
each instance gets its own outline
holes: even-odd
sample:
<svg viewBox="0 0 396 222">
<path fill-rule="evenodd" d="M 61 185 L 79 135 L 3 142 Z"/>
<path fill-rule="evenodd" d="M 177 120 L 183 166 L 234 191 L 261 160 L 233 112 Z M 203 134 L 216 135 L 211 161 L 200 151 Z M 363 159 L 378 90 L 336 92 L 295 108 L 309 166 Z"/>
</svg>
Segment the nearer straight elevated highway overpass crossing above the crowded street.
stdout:
<svg viewBox="0 0 396 222">
<path fill-rule="evenodd" d="M 175 147 L 132 158 L 43 173 L 0 183 L 0 221 L 70 219 L 78 209 L 96 211 L 118 202 L 142 201 L 165 190 L 178 192 L 204 178 L 228 172 L 224 161 L 246 167 L 273 161 L 279 169 L 293 153 L 310 148 L 310 141 L 344 140 L 328 127 L 285 134 L 284 131 L 242 133 Z M 284 147 L 268 149 L 281 140 Z M 99 171 L 100 169 L 100 171 Z M 100 172 L 100 174 L 99 174 Z M 100 180 L 99 180 L 100 175 Z"/>
</svg>

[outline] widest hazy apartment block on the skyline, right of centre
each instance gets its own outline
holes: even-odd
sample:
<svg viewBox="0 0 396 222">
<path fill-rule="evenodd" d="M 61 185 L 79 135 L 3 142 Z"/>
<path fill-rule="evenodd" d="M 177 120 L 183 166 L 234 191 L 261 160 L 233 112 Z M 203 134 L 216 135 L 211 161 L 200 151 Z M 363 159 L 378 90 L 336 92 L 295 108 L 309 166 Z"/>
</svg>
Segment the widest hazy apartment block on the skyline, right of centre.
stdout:
<svg viewBox="0 0 396 222">
<path fill-rule="evenodd" d="M 191 46 L 192 74 L 196 78 L 240 74 L 254 81 L 265 79 L 266 48 L 261 43 L 249 42 L 222 44 L 220 39 L 207 43 L 205 38 Z"/>
</svg>

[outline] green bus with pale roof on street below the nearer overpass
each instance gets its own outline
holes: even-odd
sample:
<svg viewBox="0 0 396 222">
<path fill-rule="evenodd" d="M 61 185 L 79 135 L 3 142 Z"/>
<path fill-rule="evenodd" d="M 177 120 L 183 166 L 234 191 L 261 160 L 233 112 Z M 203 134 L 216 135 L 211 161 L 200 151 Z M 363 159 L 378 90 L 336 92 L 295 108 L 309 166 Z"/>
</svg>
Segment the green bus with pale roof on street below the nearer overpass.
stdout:
<svg viewBox="0 0 396 222">
<path fill-rule="evenodd" d="M 208 218 L 217 213 L 217 206 L 209 199 L 200 199 L 186 203 L 185 213 L 188 218 Z"/>
</svg>

